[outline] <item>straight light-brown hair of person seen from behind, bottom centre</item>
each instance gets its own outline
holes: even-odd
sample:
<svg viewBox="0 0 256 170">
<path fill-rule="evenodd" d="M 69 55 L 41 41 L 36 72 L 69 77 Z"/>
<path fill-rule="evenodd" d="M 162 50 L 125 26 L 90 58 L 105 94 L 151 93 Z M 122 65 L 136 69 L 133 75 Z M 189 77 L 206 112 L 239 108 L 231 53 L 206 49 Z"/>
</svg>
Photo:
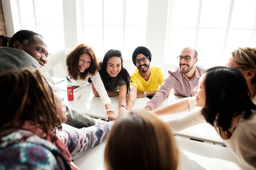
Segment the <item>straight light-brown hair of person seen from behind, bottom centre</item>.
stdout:
<svg viewBox="0 0 256 170">
<path fill-rule="evenodd" d="M 108 137 L 107 170 L 176 170 L 179 153 L 165 122 L 146 110 L 121 115 Z"/>
</svg>

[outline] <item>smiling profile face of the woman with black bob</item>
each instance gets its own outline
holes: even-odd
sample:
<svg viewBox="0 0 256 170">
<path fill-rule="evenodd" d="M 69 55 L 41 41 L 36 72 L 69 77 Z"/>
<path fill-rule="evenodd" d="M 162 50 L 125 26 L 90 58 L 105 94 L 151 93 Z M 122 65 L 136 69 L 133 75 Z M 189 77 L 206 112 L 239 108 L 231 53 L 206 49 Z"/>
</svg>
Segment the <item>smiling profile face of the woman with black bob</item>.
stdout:
<svg viewBox="0 0 256 170">
<path fill-rule="evenodd" d="M 199 78 L 198 86 L 195 87 L 195 105 L 198 107 L 204 107 L 206 102 L 206 91 L 204 86 L 204 80 L 206 74 L 202 74 L 202 76 Z"/>
</svg>

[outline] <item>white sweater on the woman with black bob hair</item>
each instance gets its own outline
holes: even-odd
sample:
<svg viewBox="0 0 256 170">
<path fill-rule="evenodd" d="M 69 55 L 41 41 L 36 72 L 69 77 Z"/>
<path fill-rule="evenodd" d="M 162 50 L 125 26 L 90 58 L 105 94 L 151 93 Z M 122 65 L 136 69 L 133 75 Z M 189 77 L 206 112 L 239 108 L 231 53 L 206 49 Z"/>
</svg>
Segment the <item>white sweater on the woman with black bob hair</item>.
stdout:
<svg viewBox="0 0 256 170">
<path fill-rule="evenodd" d="M 169 120 L 167 123 L 173 131 L 181 131 L 195 124 L 206 122 L 200 113 L 201 107 L 197 107 L 180 118 Z M 219 129 L 213 126 L 220 135 Z M 229 139 L 223 139 L 225 145 L 231 150 L 237 159 L 248 166 L 256 169 L 256 110 L 253 116 L 244 120 L 242 117 Z"/>
</svg>

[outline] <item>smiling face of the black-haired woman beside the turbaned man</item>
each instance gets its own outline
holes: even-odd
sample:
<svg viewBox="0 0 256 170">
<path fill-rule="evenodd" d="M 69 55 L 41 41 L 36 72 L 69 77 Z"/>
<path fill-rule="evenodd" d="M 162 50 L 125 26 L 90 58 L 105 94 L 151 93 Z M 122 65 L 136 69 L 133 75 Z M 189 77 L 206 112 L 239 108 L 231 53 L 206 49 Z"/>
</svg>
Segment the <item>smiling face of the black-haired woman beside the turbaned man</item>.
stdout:
<svg viewBox="0 0 256 170">
<path fill-rule="evenodd" d="M 122 68 L 122 61 L 120 57 L 114 56 L 108 59 L 106 71 L 108 73 L 108 76 L 110 76 L 110 78 L 116 77 L 121 71 L 121 68 Z"/>
</svg>

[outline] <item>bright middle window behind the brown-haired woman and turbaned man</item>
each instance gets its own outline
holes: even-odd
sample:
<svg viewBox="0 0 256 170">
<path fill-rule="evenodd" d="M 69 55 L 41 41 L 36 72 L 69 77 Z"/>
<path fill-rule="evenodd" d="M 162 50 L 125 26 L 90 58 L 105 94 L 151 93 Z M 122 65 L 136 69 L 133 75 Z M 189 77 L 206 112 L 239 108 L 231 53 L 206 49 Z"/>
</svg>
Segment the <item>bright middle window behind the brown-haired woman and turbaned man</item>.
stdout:
<svg viewBox="0 0 256 170">
<path fill-rule="evenodd" d="M 137 46 L 146 45 L 147 4 L 147 0 L 83 0 L 83 42 L 97 56 L 117 49 L 130 59 Z"/>
</svg>

